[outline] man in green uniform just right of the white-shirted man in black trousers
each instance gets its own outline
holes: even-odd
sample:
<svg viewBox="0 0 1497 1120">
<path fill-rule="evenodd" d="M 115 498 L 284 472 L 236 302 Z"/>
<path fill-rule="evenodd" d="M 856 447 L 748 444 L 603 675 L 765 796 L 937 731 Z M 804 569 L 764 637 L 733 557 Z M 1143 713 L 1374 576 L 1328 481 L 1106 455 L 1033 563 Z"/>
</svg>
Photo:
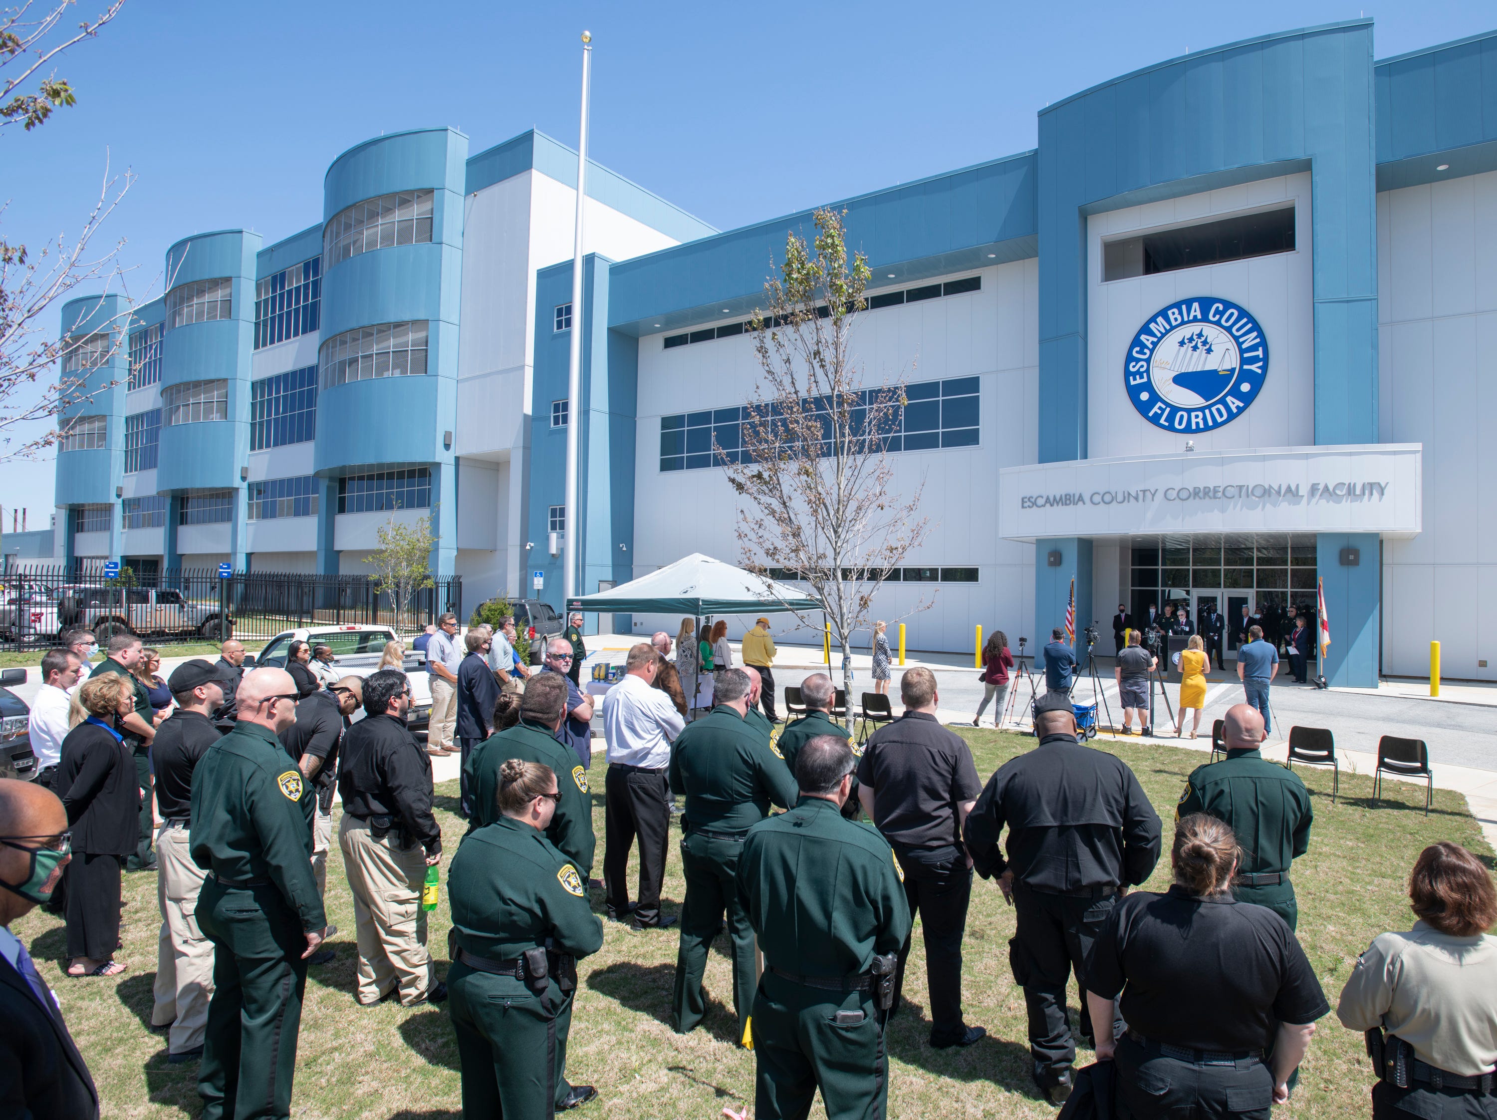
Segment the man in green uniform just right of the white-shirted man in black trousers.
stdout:
<svg viewBox="0 0 1497 1120">
<path fill-rule="evenodd" d="M 738 853 L 748 828 L 763 821 L 771 803 L 780 809 L 795 804 L 796 788 L 768 740 L 746 722 L 750 711 L 748 674 L 723 669 L 713 699 L 717 707 L 696 723 L 687 723 L 675 737 L 666 771 L 671 792 L 686 795 L 681 815 L 686 901 L 681 906 L 671 1027 L 684 1035 L 702 1021 L 707 1011 L 702 990 L 707 952 L 726 912 L 734 960 L 734 1009 L 738 1012 L 738 1038 L 743 1039 L 753 1000 L 754 958 L 753 930 L 734 888 Z"/>
</svg>

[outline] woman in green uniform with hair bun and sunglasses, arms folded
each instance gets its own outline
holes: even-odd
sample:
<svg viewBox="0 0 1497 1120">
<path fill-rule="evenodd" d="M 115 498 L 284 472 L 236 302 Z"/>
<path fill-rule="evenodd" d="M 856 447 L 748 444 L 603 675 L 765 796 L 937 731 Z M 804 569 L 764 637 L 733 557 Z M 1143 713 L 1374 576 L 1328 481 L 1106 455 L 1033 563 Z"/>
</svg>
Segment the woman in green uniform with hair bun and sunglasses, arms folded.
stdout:
<svg viewBox="0 0 1497 1120">
<path fill-rule="evenodd" d="M 575 958 L 603 945 L 584 874 L 545 837 L 561 785 L 551 767 L 506 759 L 500 816 L 452 858 L 448 1008 L 467 1120 L 548 1117 L 597 1096 L 575 1086 L 555 1101 L 566 1057 L 557 1021 L 572 1005 Z"/>
</svg>

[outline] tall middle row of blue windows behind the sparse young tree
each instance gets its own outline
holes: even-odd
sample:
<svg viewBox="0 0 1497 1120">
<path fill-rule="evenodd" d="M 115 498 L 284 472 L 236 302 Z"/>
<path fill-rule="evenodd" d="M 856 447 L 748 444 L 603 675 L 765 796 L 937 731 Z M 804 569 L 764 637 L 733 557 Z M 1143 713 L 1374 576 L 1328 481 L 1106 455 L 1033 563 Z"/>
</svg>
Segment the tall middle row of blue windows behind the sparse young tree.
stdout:
<svg viewBox="0 0 1497 1120">
<path fill-rule="evenodd" d="M 877 403 L 885 389 L 864 389 L 864 401 Z M 882 439 L 888 451 L 934 451 L 978 445 L 981 379 L 949 377 L 904 386 L 904 404 L 895 404 Z M 825 409 L 820 409 L 825 412 Z M 852 430 L 859 433 L 864 409 L 853 409 Z M 701 470 L 726 463 L 747 463 L 743 425 L 753 421 L 750 406 L 684 412 L 660 418 L 660 470 Z M 829 419 L 823 425 L 829 430 Z M 831 445 L 822 445 L 831 454 Z"/>
</svg>

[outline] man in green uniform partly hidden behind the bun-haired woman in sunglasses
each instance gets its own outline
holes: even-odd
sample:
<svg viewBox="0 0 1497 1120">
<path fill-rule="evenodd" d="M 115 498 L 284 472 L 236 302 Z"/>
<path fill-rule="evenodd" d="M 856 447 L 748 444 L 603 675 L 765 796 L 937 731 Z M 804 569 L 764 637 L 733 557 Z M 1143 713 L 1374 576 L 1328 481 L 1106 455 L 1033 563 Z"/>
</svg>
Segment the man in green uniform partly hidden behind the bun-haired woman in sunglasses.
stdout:
<svg viewBox="0 0 1497 1120">
<path fill-rule="evenodd" d="M 500 819 L 500 771 L 507 759 L 537 762 L 557 774 L 558 801 L 546 822 L 545 834 L 561 855 L 572 861 L 581 876 L 584 892 L 593 874 L 597 836 L 593 833 L 593 795 L 587 788 L 587 771 L 578 756 L 552 738 L 566 719 L 567 687 L 560 672 L 540 672 L 530 678 L 519 699 L 519 723 L 484 740 L 469 756 L 467 777 L 472 795 L 469 833 Z M 566 1041 L 572 1032 L 572 1000 L 566 1000 L 555 1015 L 557 1036 L 557 1108 L 573 1096 L 566 1080 Z"/>
</svg>

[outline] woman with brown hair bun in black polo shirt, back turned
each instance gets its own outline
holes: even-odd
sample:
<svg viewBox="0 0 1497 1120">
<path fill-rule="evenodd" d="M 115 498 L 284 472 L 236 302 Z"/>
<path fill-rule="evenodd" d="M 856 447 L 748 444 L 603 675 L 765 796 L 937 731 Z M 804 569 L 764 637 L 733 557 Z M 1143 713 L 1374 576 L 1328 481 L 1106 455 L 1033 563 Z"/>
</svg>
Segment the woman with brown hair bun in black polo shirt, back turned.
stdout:
<svg viewBox="0 0 1497 1120">
<path fill-rule="evenodd" d="M 1117 1062 L 1121 1117 L 1266 1120 L 1331 1009 L 1289 924 L 1232 898 L 1241 856 L 1226 824 L 1183 818 L 1174 886 L 1118 903 L 1087 957 L 1097 1059 Z M 1118 997 L 1127 1033 L 1114 1039 Z"/>
</svg>

